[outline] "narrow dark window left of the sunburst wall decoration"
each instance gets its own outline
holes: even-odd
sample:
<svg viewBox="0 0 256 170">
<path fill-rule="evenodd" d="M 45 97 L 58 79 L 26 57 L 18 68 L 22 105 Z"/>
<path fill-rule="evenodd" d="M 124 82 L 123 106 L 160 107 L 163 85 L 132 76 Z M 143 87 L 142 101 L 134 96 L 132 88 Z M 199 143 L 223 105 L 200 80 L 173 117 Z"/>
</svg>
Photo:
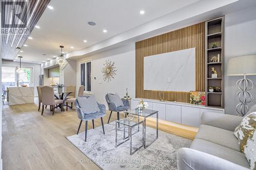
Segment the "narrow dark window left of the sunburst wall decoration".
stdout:
<svg viewBox="0 0 256 170">
<path fill-rule="evenodd" d="M 91 61 L 80 63 L 80 85 L 84 86 L 84 91 L 92 91 Z"/>
</svg>

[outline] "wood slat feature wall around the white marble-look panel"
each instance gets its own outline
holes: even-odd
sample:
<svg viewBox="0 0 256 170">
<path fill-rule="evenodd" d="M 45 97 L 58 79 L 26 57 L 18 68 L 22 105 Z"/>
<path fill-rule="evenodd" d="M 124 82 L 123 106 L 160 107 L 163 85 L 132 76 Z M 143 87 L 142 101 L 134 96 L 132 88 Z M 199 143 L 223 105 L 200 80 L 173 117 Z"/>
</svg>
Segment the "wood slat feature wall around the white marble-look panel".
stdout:
<svg viewBox="0 0 256 170">
<path fill-rule="evenodd" d="M 157 90 L 143 90 L 143 58 L 147 56 L 196 48 L 196 91 L 204 91 L 205 23 L 165 33 L 136 42 L 136 98 L 157 99 Z M 189 103 L 189 91 L 164 91 L 164 99 Z"/>
</svg>

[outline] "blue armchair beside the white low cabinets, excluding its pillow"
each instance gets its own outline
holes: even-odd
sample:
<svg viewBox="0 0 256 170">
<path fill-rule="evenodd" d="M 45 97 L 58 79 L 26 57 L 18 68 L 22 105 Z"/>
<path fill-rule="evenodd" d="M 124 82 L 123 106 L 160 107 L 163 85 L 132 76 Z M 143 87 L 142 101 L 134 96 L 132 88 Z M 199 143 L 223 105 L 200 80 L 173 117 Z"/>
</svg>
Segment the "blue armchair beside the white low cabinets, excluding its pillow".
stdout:
<svg viewBox="0 0 256 170">
<path fill-rule="evenodd" d="M 109 106 L 109 110 L 111 111 L 110 112 L 110 117 L 111 117 L 113 111 L 117 112 L 117 119 L 118 120 L 120 119 L 119 112 L 124 111 L 124 110 L 128 110 L 130 108 L 130 103 L 129 103 L 128 100 L 125 100 L 125 99 L 122 100 L 124 106 L 117 107 L 114 103 L 110 102 L 108 94 L 105 95 L 105 99 L 106 99 L 106 103 Z M 108 124 L 110 122 L 110 117 L 109 117 L 109 120 L 108 120 Z M 119 124 L 118 124 L 118 127 L 119 127 Z"/>
</svg>

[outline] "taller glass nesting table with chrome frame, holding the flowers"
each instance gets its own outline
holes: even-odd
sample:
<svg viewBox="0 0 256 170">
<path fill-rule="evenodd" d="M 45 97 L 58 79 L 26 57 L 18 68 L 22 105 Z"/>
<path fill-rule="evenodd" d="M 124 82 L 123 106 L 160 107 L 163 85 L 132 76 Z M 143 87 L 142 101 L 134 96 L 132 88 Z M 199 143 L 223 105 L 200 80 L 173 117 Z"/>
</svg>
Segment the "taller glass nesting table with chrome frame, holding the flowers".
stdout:
<svg viewBox="0 0 256 170">
<path fill-rule="evenodd" d="M 151 145 L 157 138 L 158 138 L 158 111 L 156 110 L 150 110 L 150 109 L 144 109 L 142 111 L 139 111 L 138 109 L 132 109 L 132 110 L 128 110 L 128 111 L 124 111 L 124 115 L 126 114 L 133 114 L 135 116 L 137 116 L 137 118 L 134 119 L 138 119 L 137 122 L 140 121 L 140 117 L 143 118 L 143 140 L 144 140 L 144 148 L 147 148 L 149 145 Z M 149 144 L 146 145 L 146 118 L 147 117 L 152 117 L 153 115 L 157 115 L 157 120 L 156 120 L 156 138 L 151 141 Z M 139 131 L 139 126 L 138 126 L 138 131 Z M 125 129 L 124 129 L 124 138 L 125 138 Z"/>
</svg>

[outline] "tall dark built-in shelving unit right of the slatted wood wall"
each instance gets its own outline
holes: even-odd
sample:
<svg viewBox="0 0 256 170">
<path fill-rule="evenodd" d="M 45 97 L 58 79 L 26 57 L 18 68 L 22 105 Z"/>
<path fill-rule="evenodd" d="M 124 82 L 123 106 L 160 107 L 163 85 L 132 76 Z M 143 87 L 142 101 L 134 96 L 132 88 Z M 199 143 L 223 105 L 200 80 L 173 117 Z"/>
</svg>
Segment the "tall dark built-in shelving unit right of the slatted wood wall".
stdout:
<svg viewBox="0 0 256 170">
<path fill-rule="evenodd" d="M 209 107 L 224 108 L 224 19 L 222 16 L 205 22 L 205 106 Z M 217 78 L 212 77 L 212 67 Z M 220 91 L 209 92 L 209 87 L 219 87 Z"/>
</svg>

